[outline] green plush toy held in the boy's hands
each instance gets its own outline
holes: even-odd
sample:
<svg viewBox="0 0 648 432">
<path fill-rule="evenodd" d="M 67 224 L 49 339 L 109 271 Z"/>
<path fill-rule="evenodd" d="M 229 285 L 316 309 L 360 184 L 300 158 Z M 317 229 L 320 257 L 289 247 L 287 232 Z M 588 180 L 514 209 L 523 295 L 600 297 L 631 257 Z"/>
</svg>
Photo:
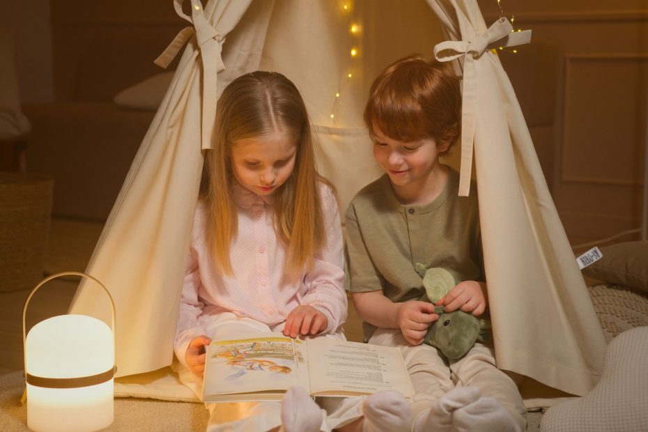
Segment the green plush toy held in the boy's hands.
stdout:
<svg viewBox="0 0 648 432">
<path fill-rule="evenodd" d="M 454 277 L 443 268 L 426 269 L 425 265 L 417 263 L 415 270 L 423 278 L 425 288 L 421 301 L 435 304 L 456 285 Z M 442 306 L 435 307 L 434 313 L 439 319 L 430 326 L 423 341 L 438 348 L 449 359 L 460 359 L 475 345 L 475 341 L 484 342 L 490 336 L 491 322 L 488 320 L 458 309 L 445 312 Z"/>
</svg>

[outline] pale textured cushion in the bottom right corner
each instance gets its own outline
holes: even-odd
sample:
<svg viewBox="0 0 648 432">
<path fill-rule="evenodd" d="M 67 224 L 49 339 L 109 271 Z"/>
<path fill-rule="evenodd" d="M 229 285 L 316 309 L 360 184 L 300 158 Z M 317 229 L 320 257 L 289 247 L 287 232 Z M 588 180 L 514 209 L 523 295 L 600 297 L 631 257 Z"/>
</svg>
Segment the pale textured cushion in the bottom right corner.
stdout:
<svg viewBox="0 0 648 432">
<path fill-rule="evenodd" d="M 648 425 L 648 327 L 613 339 L 605 350 L 601 380 L 591 392 L 547 410 L 542 432 L 640 432 Z"/>
</svg>

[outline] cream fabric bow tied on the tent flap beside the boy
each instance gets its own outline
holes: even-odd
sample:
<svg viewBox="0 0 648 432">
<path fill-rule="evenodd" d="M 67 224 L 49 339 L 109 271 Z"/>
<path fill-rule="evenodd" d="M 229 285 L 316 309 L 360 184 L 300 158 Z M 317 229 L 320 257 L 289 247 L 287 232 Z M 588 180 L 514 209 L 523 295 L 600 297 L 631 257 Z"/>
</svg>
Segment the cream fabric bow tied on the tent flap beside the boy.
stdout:
<svg viewBox="0 0 648 432">
<path fill-rule="evenodd" d="M 477 88 L 475 86 L 475 61 L 486 49 L 513 47 L 530 43 L 531 31 L 512 31 L 505 17 L 495 21 L 484 33 L 472 40 L 447 40 L 434 47 L 438 61 L 451 61 L 465 56 L 463 62 L 463 102 L 461 104 L 461 167 L 459 171 L 459 196 L 468 196 L 472 173 L 472 146 L 477 118 Z"/>
</svg>

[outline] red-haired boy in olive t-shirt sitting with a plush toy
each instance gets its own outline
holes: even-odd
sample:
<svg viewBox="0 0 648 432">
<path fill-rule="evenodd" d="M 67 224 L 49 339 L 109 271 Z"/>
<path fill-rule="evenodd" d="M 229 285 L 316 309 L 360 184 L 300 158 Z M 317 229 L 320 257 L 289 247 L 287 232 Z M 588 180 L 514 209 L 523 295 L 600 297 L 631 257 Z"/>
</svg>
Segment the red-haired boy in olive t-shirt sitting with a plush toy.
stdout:
<svg viewBox="0 0 648 432">
<path fill-rule="evenodd" d="M 514 382 L 491 346 L 448 360 L 422 344 L 438 319 L 416 263 L 442 267 L 458 284 L 438 305 L 475 316 L 488 307 L 477 189 L 459 198 L 458 173 L 441 164 L 460 133 L 461 95 L 447 63 L 396 61 L 376 78 L 364 121 L 385 175 L 346 212 L 347 288 L 371 344 L 398 346 L 415 387 L 413 431 L 523 431 Z"/>
</svg>

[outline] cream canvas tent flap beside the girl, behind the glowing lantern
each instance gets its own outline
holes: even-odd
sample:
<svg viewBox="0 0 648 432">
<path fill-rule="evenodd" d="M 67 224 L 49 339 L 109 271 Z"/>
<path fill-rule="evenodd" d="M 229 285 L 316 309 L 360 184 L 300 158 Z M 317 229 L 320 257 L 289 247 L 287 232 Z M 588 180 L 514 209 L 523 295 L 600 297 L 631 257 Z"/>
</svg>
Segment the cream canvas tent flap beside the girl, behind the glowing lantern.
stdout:
<svg viewBox="0 0 648 432">
<path fill-rule="evenodd" d="M 118 376 L 160 369 L 173 360 L 201 148 L 210 147 L 219 91 L 259 68 L 272 13 L 272 1 L 249 7 L 251 1 L 210 0 L 203 10 L 192 0 L 189 16 L 183 0 L 175 0 L 178 15 L 192 25 L 157 62 L 168 64 L 186 47 L 86 269 L 109 289 L 116 305 Z M 223 63 L 226 70 L 217 74 Z M 79 286 L 70 313 L 109 322 L 105 299 L 93 288 Z"/>
</svg>

